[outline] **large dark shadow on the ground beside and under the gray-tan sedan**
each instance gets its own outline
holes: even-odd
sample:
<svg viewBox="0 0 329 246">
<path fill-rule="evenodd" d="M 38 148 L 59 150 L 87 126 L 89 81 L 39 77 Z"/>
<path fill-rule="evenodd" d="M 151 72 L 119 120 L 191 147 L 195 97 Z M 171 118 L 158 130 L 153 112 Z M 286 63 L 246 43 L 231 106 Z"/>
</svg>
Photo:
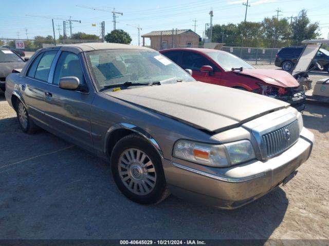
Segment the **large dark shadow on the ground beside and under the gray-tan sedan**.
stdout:
<svg viewBox="0 0 329 246">
<path fill-rule="evenodd" d="M 282 222 L 281 188 L 233 210 L 170 196 L 154 206 L 125 198 L 108 162 L 46 132 L 0 119 L 0 238 L 266 240 Z"/>
</svg>

